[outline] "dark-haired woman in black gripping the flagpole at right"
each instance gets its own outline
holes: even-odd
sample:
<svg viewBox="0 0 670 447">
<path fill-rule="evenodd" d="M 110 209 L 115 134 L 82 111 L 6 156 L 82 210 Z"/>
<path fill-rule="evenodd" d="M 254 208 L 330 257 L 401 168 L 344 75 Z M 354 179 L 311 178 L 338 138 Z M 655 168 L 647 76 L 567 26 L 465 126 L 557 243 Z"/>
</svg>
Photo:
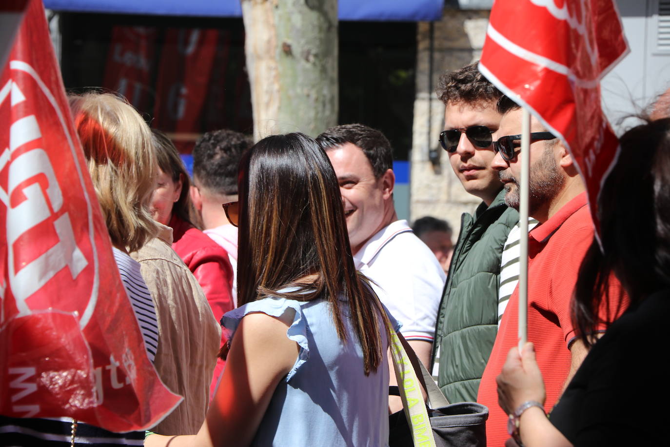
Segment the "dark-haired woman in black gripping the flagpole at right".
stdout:
<svg viewBox="0 0 670 447">
<path fill-rule="evenodd" d="M 498 376 L 500 406 L 521 412 L 511 422 L 527 447 L 667 444 L 670 119 L 634 127 L 620 143 L 598 202 L 602 251 L 594 240 L 576 286 L 573 320 L 590 352 L 549 419 L 541 409 L 544 387 L 532 344 L 521 355 L 513 348 Z M 630 306 L 596 339 L 588 334 L 602 324 L 598 310 L 609 301 L 603 291 L 613 274 Z"/>
</svg>

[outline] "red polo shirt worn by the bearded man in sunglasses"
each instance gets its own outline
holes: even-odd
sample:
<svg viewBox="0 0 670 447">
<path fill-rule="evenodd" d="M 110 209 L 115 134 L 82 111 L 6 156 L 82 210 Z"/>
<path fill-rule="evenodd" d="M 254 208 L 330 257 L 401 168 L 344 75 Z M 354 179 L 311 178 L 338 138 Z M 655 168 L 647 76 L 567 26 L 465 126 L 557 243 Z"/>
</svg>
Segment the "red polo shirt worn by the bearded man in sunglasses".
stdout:
<svg viewBox="0 0 670 447">
<path fill-rule="evenodd" d="M 575 337 L 570 318 L 572 296 L 582 259 L 594 236 L 586 206 L 586 193 L 565 204 L 547 222 L 537 226 L 528 241 L 528 340 L 535 344 L 537 363 L 545 382 L 545 411 L 556 403 L 570 369 L 569 342 Z M 611 296 L 619 296 L 620 284 L 611 281 Z M 624 303 L 627 305 L 627 299 Z M 621 313 L 620 310 L 619 313 Z M 490 411 L 486 421 L 489 446 L 503 446 L 507 414 L 498 406 L 496 377 L 507 353 L 519 340 L 519 288 L 510 298 L 500 330 L 484 369 L 477 401 Z"/>
</svg>

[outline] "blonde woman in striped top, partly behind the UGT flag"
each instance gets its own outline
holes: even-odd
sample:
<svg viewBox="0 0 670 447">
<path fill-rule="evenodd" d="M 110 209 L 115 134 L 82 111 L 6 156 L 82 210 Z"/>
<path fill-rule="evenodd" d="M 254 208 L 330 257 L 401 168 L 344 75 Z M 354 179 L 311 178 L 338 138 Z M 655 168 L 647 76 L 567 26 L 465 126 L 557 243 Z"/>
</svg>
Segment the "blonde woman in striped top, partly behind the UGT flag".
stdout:
<svg viewBox="0 0 670 447">
<path fill-rule="evenodd" d="M 151 146 L 147 145 L 151 134 L 145 132 L 146 125 L 137 112 L 112 95 L 70 97 L 70 106 L 88 172 L 107 224 L 121 281 L 135 311 L 147 357 L 155 361 L 159 348 L 156 310 L 140 273 L 139 263 L 128 255 L 128 251 L 139 249 L 158 231 L 147 211 L 156 174 L 155 155 Z M 0 416 L 0 426 L 1 445 L 72 445 L 71 419 L 15 419 Z M 141 444 L 145 434 L 112 433 L 80 423 L 75 435 L 74 445 L 136 446 Z"/>
</svg>

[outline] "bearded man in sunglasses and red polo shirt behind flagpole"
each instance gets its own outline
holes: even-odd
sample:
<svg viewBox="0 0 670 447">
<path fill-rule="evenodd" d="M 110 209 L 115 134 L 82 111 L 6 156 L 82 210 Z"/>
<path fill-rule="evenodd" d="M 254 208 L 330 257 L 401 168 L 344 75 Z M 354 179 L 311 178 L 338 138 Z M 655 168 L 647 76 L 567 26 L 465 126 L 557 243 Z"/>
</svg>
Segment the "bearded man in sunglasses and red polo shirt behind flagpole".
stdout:
<svg viewBox="0 0 670 447">
<path fill-rule="evenodd" d="M 519 158 L 531 157 L 529 214 L 540 223 L 531 231 L 528 243 L 528 340 L 535 344 L 537 363 L 545 379 L 548 412 L 587 353 L 582 341 L 576 339 L 570 313 L 579 268 L 593 241 L 594 229 L 584 183 L 563 142 L 533 118 L 529 154 L 520 153 L 521 107 L 502 97 L 498 112 L 503 116 L 494 134 L 497 153 L 492 167 L 505 186 L 508 206 L 519 208 Z M 610 296 L 618 297 L 620 285 L 612 282 Z M 610 308 L 616 310 L 618 306 L 614 303 Z M 496 376 L 509 350 L 517 345 L 518 318 L 517 288 L 502 316 L 477 398 L 490 410 L 486 438 L 492 447 L 504 445 L 509 438 L 507 414 L 498 406 Z"/>
</svg>

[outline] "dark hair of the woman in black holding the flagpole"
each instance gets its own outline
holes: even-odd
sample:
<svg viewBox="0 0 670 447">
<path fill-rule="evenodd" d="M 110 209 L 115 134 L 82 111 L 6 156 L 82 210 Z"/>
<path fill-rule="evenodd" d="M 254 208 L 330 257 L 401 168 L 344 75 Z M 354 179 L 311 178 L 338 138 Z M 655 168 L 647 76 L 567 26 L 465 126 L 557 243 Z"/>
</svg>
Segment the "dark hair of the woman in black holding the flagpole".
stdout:
<svg viewBox="0 0 670 447">
<path fill-rule="evenodd" d="M 603 251 L 594 239 L 576 285 L 573 321 L 587 346 L 590 334 L 610 323 L 599 310 L 620 302 L 607 293 L 613 273 L 630 308 L 670 285 L 670 119 L 630 129 L 620 146 L 598 200 Z"/>
</svg>

